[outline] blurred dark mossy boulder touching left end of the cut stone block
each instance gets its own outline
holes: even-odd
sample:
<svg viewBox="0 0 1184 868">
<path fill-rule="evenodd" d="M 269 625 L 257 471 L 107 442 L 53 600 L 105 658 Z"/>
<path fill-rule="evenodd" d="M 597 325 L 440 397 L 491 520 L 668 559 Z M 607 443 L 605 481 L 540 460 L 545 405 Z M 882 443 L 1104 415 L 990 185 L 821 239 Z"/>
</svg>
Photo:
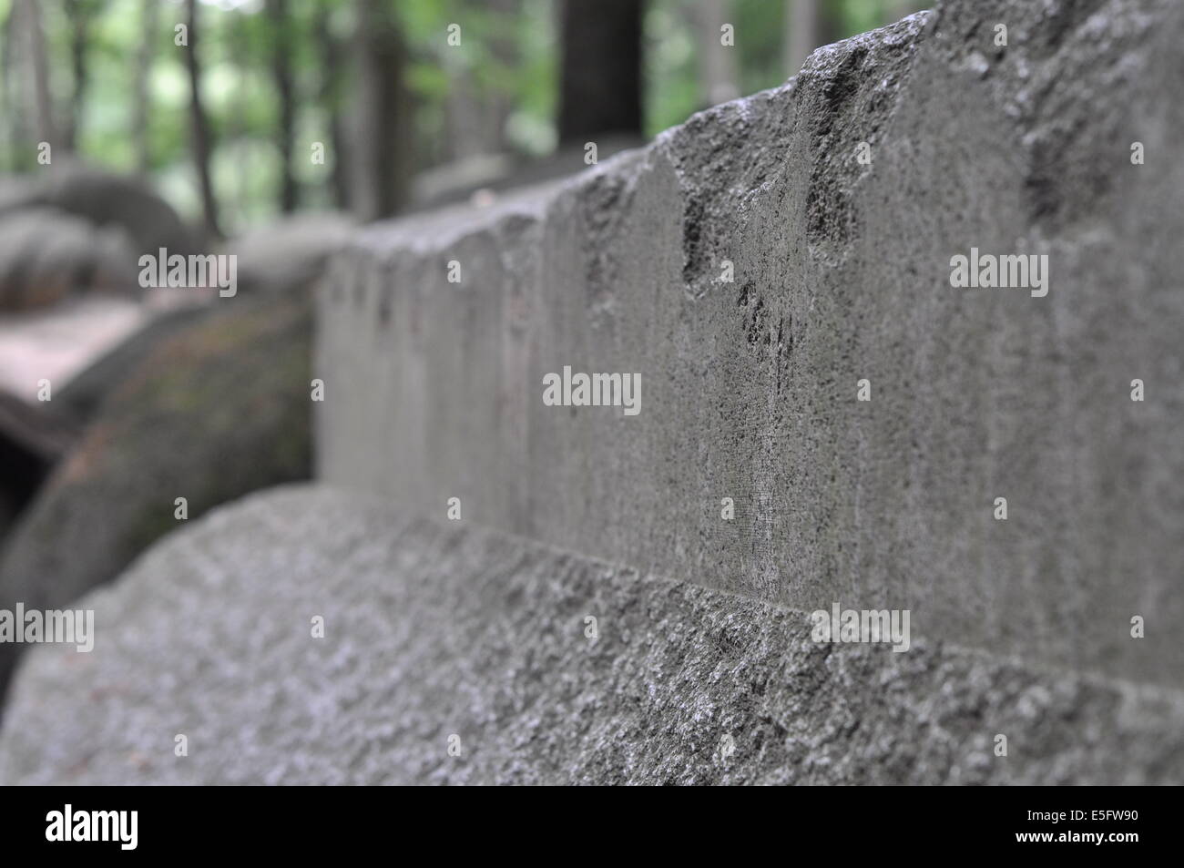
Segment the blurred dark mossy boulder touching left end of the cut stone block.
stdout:
<svg viewBox="0 0 1184 868">
<path fill-rule="evenodd" d="M 0 552 L 0 609 L 69 605 L 206 509 L 311 471 L 307 294 L 233 298 L 103 403 Z M 0 690 L 20 645 L 0 643 Z"/>
</svg>

